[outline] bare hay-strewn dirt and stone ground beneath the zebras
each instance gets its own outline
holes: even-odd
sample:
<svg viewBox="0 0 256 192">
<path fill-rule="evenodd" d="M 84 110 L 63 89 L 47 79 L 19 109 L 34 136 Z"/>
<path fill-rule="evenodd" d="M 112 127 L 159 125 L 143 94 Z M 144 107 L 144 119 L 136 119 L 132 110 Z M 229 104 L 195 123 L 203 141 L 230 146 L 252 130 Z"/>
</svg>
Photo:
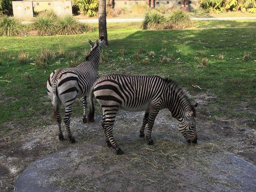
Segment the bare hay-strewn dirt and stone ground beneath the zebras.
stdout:
<svg viewBox="0 0 256 192">
<path fill-rule="evenodd" d="M 106 146 L 100 116 L 89 125 L 72 120 L 76 144 L 59 141 L 56 125 L 21 132 L 12 122 L 13 131 L 0 141 L 0 191 L 253 191 L 255 123 L 211 117 L 207 105 L 214 97 L 195 96 L 198 144 L 187 144 L 162 110 L 149 146 L 138 137 L 144 113 L 120 111 L 114 137 L 122 156 Z"/>
</svg>

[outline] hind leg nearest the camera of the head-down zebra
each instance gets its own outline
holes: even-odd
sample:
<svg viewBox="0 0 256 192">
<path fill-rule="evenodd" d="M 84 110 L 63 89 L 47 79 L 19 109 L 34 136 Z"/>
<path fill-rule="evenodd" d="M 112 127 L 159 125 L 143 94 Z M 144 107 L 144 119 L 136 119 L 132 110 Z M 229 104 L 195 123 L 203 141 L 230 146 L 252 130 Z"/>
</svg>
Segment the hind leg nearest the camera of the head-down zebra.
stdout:
<svg viewBox="0 0 256 192">
<path fill-rule="evenodd" d="M 108 136 L 110 144 L 116 150 L 117 155 L 122 155 L 123 151 L 121 150 L 121 148 L 119 148 L 117 146 L 116 141 L 115 141 L 115 139 L 113 137 L 113 132 L 112 132 L 114 121 L 115 121 L 115 117 L 116 117 L 116 111 L 115 111 L 115 113 L 106 114 L 104 131 L 105 131 L 105 133 Z"/>
</svg>

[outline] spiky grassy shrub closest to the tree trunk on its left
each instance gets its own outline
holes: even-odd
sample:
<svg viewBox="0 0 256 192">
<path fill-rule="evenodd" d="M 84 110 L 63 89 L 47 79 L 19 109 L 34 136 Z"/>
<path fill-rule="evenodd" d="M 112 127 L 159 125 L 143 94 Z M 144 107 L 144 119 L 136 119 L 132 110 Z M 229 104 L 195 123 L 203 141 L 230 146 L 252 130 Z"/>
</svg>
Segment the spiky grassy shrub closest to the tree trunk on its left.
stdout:
<svg viewBox="0 0 256 192">
<path fill-rule="evenodd" d="M 81 34 L 85 31 L 84 24 L 79 23 L 73 16 L 66 15 L 59 20 L 59 35 Z"/>
</svg>

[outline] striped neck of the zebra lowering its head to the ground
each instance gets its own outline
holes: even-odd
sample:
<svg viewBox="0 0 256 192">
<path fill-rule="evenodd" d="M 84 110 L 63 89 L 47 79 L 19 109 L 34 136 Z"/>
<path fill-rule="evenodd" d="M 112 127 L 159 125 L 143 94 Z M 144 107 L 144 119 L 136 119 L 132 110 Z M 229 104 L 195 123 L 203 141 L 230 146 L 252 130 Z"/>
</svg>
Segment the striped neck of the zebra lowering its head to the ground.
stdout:
<svg viewBox="0 0 256 192">
<path fill-rule="evenodd" d="M 167 98 L 169 99 L 166 107 L 171 111 L 172 117 L 182 121 L 187 120 L 192 116 L 194 110 L 193 105 L 177 84 L 174 82 L 169 84 L 167 95 Z"/>
</svg>

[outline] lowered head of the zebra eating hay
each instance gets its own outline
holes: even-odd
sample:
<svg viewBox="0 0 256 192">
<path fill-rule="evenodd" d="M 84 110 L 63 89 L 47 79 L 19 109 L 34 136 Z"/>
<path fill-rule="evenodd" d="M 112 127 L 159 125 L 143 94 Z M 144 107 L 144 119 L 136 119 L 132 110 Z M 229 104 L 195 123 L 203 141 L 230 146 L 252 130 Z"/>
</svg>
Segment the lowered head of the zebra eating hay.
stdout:
<svg viewBox="0 0 256 192">
<path fill-rule="evenodd" d="M 183 134 L 188 143 L 197 143 L 195 109 L 198 103 L 195 103 L 193 109 L 185 114 L 183 120 L 179 121 L 179 131 Z"/>
</svg>

